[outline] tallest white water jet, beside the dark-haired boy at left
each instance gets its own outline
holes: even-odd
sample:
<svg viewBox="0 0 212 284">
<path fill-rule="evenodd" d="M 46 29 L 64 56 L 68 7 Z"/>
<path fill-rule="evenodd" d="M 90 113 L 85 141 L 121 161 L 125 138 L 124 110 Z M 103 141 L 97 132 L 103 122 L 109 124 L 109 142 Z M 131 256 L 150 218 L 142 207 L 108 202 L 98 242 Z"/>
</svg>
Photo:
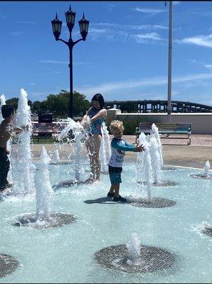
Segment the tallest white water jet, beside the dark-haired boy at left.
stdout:
<svg viewBox="0 0 212 284">
<path fill-rule="evenodd" d="M 28 105 L 27 93 L 21 89 L 21 96 L 18 100 L 18 109 L 14 119 L 16 127 L 25 129 L 18 133 L 16 159 L 14 162 L 13 179 L 16 180 L 13 192 L 15 194 L 33 192 L 33 170 L 35 169 L 31 158 L 31 110 Z M 26 128 L 27 126 L 27 128 Z"/>
</svg>

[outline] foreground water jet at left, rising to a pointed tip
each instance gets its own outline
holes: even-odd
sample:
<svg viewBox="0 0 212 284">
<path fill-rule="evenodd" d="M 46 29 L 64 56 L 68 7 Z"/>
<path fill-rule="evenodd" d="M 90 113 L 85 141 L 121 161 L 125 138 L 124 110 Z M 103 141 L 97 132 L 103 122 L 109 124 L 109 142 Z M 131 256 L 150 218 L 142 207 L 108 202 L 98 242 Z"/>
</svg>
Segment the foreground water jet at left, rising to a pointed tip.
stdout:
<svg viewBox="0 0 212 284">
<path fill-rule="evenodd" d="M 47 219 L 50 217 L 50 197 L 53 193 L 48 164 L 51 158 L 46 152 L 46 148 L 43 147 L 41 152 L 41 164 L 35 174 L 35 186 L 36 186 L 36 219 Z"/>
</svg>

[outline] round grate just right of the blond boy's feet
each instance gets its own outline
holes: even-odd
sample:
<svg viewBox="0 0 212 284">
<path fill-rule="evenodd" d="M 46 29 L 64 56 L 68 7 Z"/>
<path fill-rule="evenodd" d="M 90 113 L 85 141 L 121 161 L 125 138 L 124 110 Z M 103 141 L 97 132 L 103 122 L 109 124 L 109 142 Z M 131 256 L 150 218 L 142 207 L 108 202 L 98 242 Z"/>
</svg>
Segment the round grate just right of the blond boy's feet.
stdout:
<svg viewBox="0 0 212 284">
<path fill-rule="evenodd" d="M 176 204 L 174 200 L 167 200 L 166 198 L 161 197 L 152 197 L 152 202 L 149 202 L 145 198 L 139 198 L 139 200 L 127 202 L 136 207 L 146 207 L 146 208 L 162 208 L 162 207 L 171 207 Z"/>
</svg>

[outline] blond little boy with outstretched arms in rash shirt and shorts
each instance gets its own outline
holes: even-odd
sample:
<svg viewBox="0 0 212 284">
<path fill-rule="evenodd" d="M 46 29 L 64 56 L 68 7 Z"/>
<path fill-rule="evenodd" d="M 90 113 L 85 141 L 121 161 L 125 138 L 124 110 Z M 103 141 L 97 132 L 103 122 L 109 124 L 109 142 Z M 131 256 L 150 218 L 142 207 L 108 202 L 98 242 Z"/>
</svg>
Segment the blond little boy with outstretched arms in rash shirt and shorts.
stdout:
<svg viewBox="0 0 212 284">
<path fill-rule="evenodd" d="M 126 151 L 142 152 L 145 151 L 144 146 L 133 146 L 122 139 L 124 126 L 122 121 L 114 120 L 110 124 L 110 131 L 114 138 L 111 141 L 111 157 L 109 161 L 110 174 L 110 192 L 108 197 L 113 197 L 115 202 L 127 202 L 126 198 L 120 195 L 120 183 L 122 182 L 122 163 L 124 161 L 124 154 Z"/>
</svg>

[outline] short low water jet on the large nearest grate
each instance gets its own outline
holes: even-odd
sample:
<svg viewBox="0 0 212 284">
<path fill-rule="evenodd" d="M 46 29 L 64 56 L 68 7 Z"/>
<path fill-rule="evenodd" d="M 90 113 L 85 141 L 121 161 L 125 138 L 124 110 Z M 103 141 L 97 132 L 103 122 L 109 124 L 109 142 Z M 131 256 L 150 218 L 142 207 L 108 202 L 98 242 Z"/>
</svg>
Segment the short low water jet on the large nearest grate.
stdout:
<svg viewBox="0 0 212 284">
<path fill-rule="evenodd" d="M 137 233 L 132 233 L 131 239 L 127 243 L 127 264 L 139 266 L 141 244 Z"/>
</svg>

